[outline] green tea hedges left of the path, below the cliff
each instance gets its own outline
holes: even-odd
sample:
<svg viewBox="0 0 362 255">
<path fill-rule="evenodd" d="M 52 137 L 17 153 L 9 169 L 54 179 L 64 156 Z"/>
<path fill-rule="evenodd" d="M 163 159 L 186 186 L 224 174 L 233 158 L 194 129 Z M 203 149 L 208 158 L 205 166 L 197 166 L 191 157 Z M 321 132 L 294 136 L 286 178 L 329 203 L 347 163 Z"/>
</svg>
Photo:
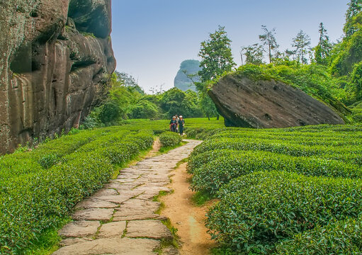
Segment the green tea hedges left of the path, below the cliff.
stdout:
<svg viewBox="0 0 362 255">
<path fill-rule="evenodd" d="M 142 129 L 142 127 L 140 127 Z M 152 146 L 152 130 L 112 127 L 52 140 L 0 159 L 0 254 L 21 254 L 73 206 Z"/>
</svg>

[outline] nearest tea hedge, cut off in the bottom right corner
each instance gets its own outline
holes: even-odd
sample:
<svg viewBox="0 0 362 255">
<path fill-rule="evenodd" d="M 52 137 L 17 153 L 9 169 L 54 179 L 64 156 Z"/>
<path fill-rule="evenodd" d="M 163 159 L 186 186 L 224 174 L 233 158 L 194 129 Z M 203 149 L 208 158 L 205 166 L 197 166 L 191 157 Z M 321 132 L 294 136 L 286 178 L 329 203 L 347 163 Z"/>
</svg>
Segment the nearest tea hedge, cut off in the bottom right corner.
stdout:
<svg viewBox="0 0 362 255">
<path fill-rule="evenodd" d="M 362 220 L 350 218 L 317 226 L 276 246 L 278 255 L 362 254 Z"/>
</svg>

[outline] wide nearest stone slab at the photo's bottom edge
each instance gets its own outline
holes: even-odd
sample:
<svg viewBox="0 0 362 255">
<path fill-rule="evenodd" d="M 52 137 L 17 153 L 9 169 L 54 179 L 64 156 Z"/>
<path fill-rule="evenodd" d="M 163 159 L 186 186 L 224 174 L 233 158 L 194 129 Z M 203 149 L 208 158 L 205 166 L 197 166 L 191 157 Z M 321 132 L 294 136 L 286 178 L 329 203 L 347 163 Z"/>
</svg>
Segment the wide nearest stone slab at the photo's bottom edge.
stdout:
<svg viewBox="0 0 362 255">
<path fill-rule="evenodd" d="M 53 255 L 154 255 L 160 242 L 151 239 L 103 238 L 64 246 Z"/>
</svg>

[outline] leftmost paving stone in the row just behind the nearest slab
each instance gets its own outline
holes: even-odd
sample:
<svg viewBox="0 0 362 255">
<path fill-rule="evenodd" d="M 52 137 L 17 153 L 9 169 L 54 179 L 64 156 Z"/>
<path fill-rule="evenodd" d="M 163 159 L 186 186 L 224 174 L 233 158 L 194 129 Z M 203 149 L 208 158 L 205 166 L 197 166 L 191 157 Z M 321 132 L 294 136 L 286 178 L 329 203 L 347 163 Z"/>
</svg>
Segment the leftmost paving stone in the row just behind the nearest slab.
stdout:
<svg viewBox="0 0 362 255">
<path fill-rule="evenodd" d="M 59 231 L 59 234 L 61 237 L 88 237 L 96 234 L 100 226 L 101 223 L 97 221 L 69 222 Z"/>
</svg>

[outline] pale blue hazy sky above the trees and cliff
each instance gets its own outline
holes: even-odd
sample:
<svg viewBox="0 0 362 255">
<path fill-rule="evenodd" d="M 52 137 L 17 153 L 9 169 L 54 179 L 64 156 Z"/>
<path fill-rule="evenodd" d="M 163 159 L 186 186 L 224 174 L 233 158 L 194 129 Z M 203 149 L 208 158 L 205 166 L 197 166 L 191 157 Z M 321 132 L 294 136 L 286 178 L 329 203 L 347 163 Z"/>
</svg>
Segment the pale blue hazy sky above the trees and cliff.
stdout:
<svg viewBox="0 0 362 255">
<path fill-rule="evenodd" d="M 341 38 L 349 0 L 113 0 L 113 50 L 117 70 L 134 76 L 149 92 L 174 86 L 183 60 L 198 60 L 200 42 L 218 25 L 232 40 L 234 61 L 240 47 L 259 42 L 261 25 L 276 28 L 281 49 L 300 29 L 317 45 L 318 26 Z"/>
</svg>

